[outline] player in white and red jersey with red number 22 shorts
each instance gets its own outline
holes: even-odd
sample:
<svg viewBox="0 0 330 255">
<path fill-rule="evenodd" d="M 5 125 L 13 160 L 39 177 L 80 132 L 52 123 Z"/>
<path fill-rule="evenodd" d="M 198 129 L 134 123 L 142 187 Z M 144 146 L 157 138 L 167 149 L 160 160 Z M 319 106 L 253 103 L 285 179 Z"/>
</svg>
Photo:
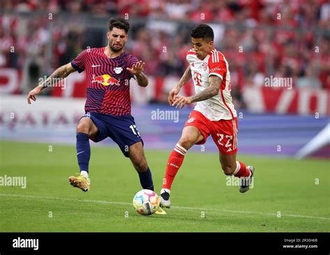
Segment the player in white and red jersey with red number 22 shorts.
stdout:
<svg viewBox="0 0 330 255">
<path fill-rule="evenodd" d="M 200 24 L 191 32 L 193 49 L 187 52 L 189 66 L 168 95 L 168 103 L 183 108 L 196 102 L 196 107 L 184 125 L 182 135 L 168 157 L 160 205 L 171 206 L 171 185 L 181 167 L 184 155 L 194 144 L 205 144 L 210 135 L 219 148 L 219 160 L 223 172 L 239 180 L 239 192 L 249 190 L 254 168 L 245 167 L 236 160 L 237 114 L 230 95 L 230 72 L 228 62 L 221 52 L 214 48 L 214 33 L 210 26 Z M 183 84 L 192 78 L 195 95 L 178 95 Z"/>
</svg>

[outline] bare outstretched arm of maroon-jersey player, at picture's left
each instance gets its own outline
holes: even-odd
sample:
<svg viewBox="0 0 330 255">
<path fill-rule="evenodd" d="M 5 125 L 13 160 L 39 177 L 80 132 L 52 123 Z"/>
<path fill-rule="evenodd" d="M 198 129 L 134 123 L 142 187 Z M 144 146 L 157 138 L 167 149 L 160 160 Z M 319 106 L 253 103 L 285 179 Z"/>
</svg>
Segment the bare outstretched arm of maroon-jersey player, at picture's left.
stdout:
<svg viewBox="0 0 330 255">
<path fill-rule="evenodd" d="M 64 79 L 65 77 L 68 77 L 71 72 L 75 72 L 74 68 L 72 68 L 71 63 L 68 63 L 66 65 L 62 65 L 60 68 L 57 68 L 52 75 L 50 75 L 44 82 L 36 86 L 36 88 L 33 88 L 27 96 L 27 100 L 29 105 L 31 105 L 31 99 L 33 101 L 36 101 L 36 95 L 40 94 L 42 89 L 47 88 L 49 86 L 53 86 L 54 83 L 58 82 L 56 79 L 57 78 L 62 78 Z"/>
</svg>

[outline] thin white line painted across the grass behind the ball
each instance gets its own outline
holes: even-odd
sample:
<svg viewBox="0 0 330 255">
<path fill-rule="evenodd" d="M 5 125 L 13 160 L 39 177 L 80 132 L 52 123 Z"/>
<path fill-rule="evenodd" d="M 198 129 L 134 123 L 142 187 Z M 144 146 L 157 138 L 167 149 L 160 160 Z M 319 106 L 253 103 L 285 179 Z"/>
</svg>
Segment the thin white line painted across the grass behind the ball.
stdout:
<svg viewBox="0 0 330 255">
<path fill-rule="evenodd" d="M 117 205 L 124 205 L 124 206 L 132 206 L 132 203 L 125 203 L 125 202 L 114 202 L 114 201 L 102 201 L 102 200 L 80 200 L 80 199 L 65 199 L 61 197 L 53 197 L 53 196 L 31 196 L 31 195 L 19 195 L 19 194 L 0 194 L 0 196 L 17 196 L 17 197 L 23 197 L 28 199 L 53 199 L 53 200 L 62 200 L 62 201 L 76 201 L 76 202 L 87 202 L 87 203 L 109 203 L 109 204 L 117 204 Z M 199 207 L 187 207 L 187 206 L 171 206 L 171 208 L 177 208 L 177 209 L 184 209 L 184 210 L 212 210 L 216 212 L 232 212 L 232 213 L 248 213 L 253 215 L 267 215 L 267 216 L 276 216 L 276 213 L 270 213 L 270 212 L 250 212 L 246 210 L 226 210 L 226 209 L 214 209 L 214 208 L 199 208 Z M 315 216 L 308 216 L 308 215 L 285 215 L 282 214 L 282 216 L 286 217 L 299 217 L 299 218 L 310 218 L 310 219 L 327 219 L 330 218 L 326 217 L 315 217 Z"/>
</svg>

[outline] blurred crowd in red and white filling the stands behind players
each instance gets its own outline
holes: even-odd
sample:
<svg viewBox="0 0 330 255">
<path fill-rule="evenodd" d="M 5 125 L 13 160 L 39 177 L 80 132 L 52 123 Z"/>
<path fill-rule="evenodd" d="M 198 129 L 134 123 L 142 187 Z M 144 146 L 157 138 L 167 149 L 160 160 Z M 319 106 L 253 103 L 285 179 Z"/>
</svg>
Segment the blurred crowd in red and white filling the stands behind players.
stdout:
<svg viewBox="0 0 330 255">
<path fill-rule="evenodd" d="M 2 0 L 0 10 L 0 68 L 32 77 L 105 46 L 107 21 L 120 16 L 132 26 L 127 51 L 146 62 L 147 75 L 180 77 L 191 29 L 208 23 L 237 91 L 270 75 L 330 89 L 330 1 Z"/>
</svg>

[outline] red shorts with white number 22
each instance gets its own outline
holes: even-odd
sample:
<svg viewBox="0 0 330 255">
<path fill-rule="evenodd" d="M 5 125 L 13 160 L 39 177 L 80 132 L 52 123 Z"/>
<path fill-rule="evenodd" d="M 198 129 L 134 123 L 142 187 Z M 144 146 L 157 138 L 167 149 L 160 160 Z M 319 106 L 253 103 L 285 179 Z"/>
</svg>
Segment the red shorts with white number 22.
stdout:
<svg viewBox="0 0 330 255">
<path fill-rule="evenodd" d="M 184 127 L 194 126 L 203 134 L 204 140 L 197 144 L 205 144 L 211 134 L 220 152 L 231 155 L 237 151 L 237 118 L 233 120 L 210 121 L 199 111 L 191 111 Z"/>
</svg>

